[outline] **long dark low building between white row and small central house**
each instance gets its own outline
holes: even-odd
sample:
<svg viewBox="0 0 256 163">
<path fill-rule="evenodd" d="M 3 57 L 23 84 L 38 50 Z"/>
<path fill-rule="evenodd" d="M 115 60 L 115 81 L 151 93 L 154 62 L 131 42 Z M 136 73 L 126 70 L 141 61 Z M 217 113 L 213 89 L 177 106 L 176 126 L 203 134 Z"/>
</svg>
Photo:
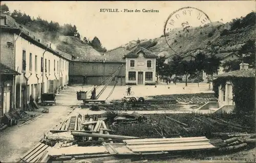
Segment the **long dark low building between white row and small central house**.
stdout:
<svg viewBox="0 0 256 163">
<path fill-rule="evenodd" d="M 71 85 L 100 85 L 108 82 L 121 65 L 122 68 L 109 85 L 117 82 L 118 86 L 125 85 L 125 61 L 122 56 L 86 56 L 70 63 L 69 77 Z"/>
</svg>

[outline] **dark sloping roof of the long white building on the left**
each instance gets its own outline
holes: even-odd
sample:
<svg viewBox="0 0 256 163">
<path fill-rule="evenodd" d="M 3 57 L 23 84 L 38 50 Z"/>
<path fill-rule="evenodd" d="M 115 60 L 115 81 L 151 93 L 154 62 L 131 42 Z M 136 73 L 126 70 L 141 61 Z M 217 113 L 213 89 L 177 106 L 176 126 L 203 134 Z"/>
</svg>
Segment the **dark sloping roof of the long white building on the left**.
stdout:
<svg viewBox="0 0 256 163">
<path fill-rule="evenodd" d="M 11 33 L 16 33 L 17 35 L 20 34 L 20 37 L 30 41 L 31 43 L 35 44 L 38 47 L 41 47 L 42 49 L 45 49 L 49 52 L 52 52 L 54 55 L 60 57 L 60 58 L 64 58 L 67 60 L 70 60 L 66 57 L 63 57 L 62 55 L 60 55 L 57 51 L 53 50 L 52 48 L 49 48 L 47 45 L 42 44 L 41 42 L 39 42 L 38 40 L 34 39 L 33 37 L 29 36 L 27 33 L 25 33 L 24 31 L 18 29 L 18 28 L 12 28 L 12 27 L 8 27 L 8 26 L 1 26 L 1 32 L 11 32 Z"/>
</svg>

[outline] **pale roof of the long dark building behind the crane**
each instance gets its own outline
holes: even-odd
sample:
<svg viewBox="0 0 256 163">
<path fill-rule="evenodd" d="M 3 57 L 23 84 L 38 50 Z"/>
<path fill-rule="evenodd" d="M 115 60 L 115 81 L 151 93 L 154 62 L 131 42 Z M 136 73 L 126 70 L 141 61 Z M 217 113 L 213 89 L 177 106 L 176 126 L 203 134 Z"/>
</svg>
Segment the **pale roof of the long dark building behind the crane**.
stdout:
<svg viewBox="0 0 256 163">
<path fill-rule="evenodd" d="M 73 60 L 74 62 L 107 62 L 107 63 L 125 63 L 122 56 L 84 56 Z"/>
</svg>

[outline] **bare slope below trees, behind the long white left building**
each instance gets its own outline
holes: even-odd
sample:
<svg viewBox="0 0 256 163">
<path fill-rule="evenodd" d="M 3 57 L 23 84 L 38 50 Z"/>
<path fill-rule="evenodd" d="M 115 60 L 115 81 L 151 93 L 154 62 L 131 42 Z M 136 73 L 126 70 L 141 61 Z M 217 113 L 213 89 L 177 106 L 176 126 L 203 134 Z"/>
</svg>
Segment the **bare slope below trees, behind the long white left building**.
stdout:
<svg viewBox="0 0 256 163">
<path fill-rule="evenodd" d="M 7 17 L 8 26 L 17 28 L 20 25 L 11 16 L 5 16 Z M 41 28 L 41 25 L 35 22 L 29 22 L 22 26 L 25 32 L 29 32 L 30 36 L 35 37 L 37 40 L 40 39 L 40 42 L 44 44 L 51 43 L 53 49 L 71 53 L 76 57 L 101 56 L 100 52 L 96 51 L 92 46 L 83 43 L 77 37 L 63 36 L 59 32 L 44 31 L 44 29 Z"/>
</svg>

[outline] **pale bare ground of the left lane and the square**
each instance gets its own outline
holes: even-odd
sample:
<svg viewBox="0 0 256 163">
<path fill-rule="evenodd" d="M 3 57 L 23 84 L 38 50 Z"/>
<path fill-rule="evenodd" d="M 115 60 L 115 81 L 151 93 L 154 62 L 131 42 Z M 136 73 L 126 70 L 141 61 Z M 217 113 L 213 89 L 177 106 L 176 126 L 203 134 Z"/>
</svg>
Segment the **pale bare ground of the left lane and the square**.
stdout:
<svg viewBox="0 0 256 163">
<path fill-rule="evenodd" d="M 86 88 L 68 87 L 66 90 L 61 91 L 61 93 L 56 96 L 57 106 L 50 106 L 49 114 L 45 113 L 43 116 L 29 124 L 20 127 L 16 125 L 1 131 L 0 161 L 18 161 L 19 156 L 22 156 L 34 145 L 36 145 L 45 132 L 53 129 L 56 127 L 56 125 L 68 117 L 68 115 L 73 111 L 73 108 L 70 107 L 71 105 L 79 105 L 82 102 L 76 99 L 76 91 L 85 91 L 91 87 L 92 86 L 88 86 Z M 170 88 L 168 89 L 167 87 Z M 135 92 L 134 96 L 212 92 L 211 90 L 208 90 L 207 84 L 200 84 L 199 88 L 197 84 L 188 84 L 188 87 L 185 87 L 185 89 L 182 87 L 184 87 L 184 84 L 158 85 L 157 88 L 155 88 L 155 86 L 132 86 L 132 91 Z M 113 86 L 107 87 L 100 98 L 105 99 L 109 95 L 112 88 Z M 125 90 L 126 86 L 117 86 L 108 100 L 122 98 Z M 72 113 L 77 113 L 79 110 L 81 109 L 75 109 Z M 40 113 L 40 111 L 37 112 L 38 114 Z M 99 112 L 90 111 L 89 109 L 83 109 L 83 112 L 88 114 L 100 114 Z"/>
</svg>

